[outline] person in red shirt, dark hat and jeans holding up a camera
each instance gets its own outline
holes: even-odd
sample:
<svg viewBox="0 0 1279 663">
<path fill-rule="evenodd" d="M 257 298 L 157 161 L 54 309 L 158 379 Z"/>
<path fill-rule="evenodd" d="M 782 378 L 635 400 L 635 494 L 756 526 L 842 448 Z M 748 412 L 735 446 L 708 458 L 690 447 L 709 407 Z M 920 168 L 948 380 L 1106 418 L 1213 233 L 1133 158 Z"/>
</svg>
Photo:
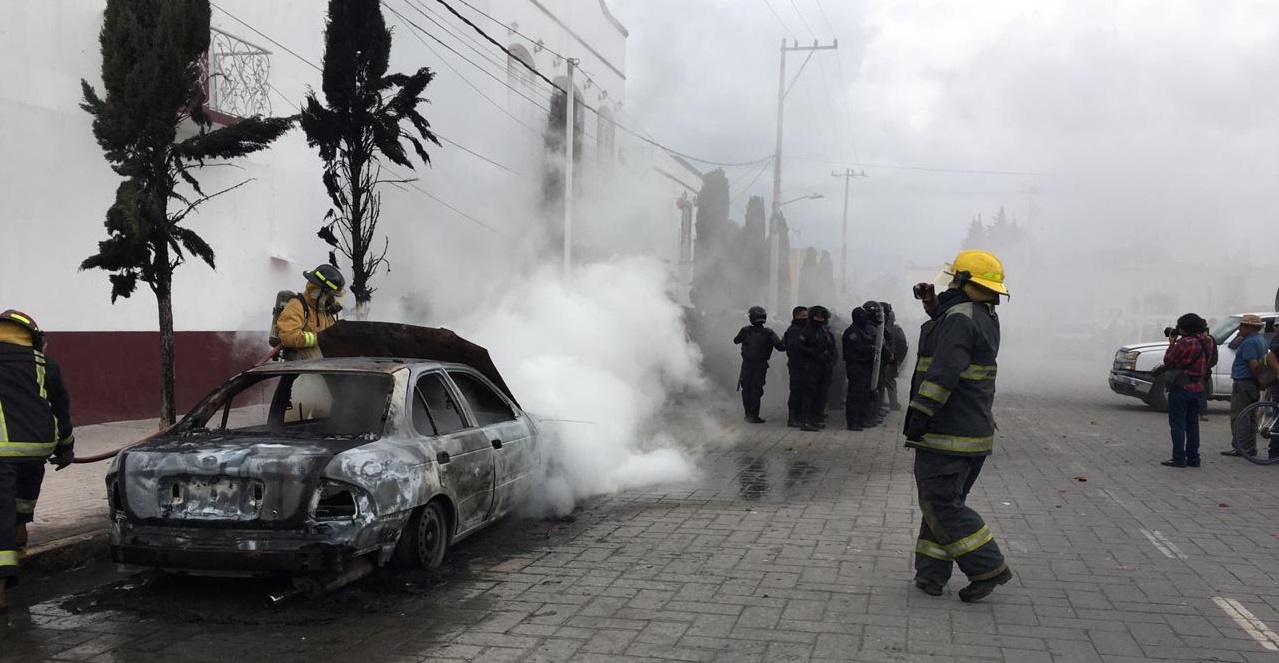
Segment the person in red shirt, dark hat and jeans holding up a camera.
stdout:
<svg viewBox="0 0 1279 663">
<path fill-rule="evenodd" d="M 1204 375 L 1212 363 L 1216 342 L 1207 335 L 1207 320 L 1186 314 L 1177 328 L 1165 328 L 1164 388 L 1168 389 L 1168 427 L 1173 457 L 1165 467 L 1198 467 L 1198 415 L 1204 402 Z"/>
</svg>

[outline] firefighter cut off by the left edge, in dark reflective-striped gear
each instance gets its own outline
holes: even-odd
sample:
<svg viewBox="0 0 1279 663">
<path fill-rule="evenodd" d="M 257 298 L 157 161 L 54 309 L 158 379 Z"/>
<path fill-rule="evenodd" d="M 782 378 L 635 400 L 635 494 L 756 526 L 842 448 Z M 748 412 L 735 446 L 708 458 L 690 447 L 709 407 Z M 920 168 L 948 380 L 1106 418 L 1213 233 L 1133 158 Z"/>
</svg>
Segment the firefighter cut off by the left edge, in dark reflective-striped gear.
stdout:
<svg viewBox="0 0 1279 663">
<path fill-rule="evenodd" d="M 0 314 L 0 614 L 18 584 L 18 549 L 27 545 L 45 459 L 59 470 L 75 458 L 70 397 L 45 333 L 22 311 Z"/>
</svg>

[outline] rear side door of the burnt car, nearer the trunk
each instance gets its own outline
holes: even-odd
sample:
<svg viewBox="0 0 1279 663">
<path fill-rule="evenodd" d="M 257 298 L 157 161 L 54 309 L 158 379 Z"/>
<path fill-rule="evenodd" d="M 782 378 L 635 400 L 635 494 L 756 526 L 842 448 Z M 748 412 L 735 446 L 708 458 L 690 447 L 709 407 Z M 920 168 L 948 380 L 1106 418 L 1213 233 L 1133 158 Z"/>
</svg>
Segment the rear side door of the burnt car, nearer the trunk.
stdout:
<svg viewBox="0 0 1279 663">
<path fill-rule="evenodd" d="M 434 447 L 440 484 L 458 511 L 457 531 L 482 523 L 492 511 L 494 448 L 469 419 L 460 395 L 443 371 L 417 378 L 412 403 L 413 430 Z"/>
</svg>

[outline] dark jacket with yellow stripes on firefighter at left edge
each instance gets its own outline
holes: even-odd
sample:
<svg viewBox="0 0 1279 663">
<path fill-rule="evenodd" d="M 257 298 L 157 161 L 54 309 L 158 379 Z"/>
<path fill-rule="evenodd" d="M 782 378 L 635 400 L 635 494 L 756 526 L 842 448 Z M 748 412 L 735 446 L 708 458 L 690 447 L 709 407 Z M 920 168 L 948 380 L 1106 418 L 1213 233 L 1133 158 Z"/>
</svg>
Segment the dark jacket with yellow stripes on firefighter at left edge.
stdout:
<svg viewBox="0 0 1279 663">
<path fill-rule="evenodd" d="M 73 448 L 70 406 L 58 363 L 31 347 L 26 330 L 0 325 L 0 462 Z"/>
</svg>

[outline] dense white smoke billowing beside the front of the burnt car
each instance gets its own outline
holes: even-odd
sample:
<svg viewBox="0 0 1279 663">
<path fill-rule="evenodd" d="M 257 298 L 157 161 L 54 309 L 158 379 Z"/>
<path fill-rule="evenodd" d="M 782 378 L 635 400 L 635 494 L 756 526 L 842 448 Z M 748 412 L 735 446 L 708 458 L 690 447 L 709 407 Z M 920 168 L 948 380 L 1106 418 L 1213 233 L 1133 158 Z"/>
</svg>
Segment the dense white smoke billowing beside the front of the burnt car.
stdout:
<svg viewBox="0 0 1279 663">
<path fill-rule="evenodd" d="M 654 259 L 546 268 L 460 325 L 489 348 L 521 404 L 544 420 L 550 474 L 533 511 L 696 476 L 696 438 L 661 430 L 671 397 L 703 388 L 701 352 Z"/>
</svg>

